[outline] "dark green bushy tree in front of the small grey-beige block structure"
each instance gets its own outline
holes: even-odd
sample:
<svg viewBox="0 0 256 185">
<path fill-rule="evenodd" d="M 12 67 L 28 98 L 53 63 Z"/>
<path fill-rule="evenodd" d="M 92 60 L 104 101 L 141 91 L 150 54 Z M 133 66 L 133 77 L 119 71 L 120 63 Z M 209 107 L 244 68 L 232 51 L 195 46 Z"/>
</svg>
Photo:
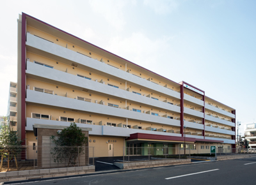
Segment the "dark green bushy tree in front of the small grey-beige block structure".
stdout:
<svg viewBox="0 0 256 185">
<path fill-rule="evenodd" d="M 56 145 L 52 148 L 52 157 L 54 162 L 63 163 L 68 159 L 68 166 L 76 165 L 76 159 L 81 154 L 84 154 L 84 145 L 88 143 L 88 138 L 82 132 L 82 129 L 77 127 L 76 123 L 70 123 L 68 128 L 63 129 L 58 137 L 51 136 L 52 142 Z"/>
</svg>

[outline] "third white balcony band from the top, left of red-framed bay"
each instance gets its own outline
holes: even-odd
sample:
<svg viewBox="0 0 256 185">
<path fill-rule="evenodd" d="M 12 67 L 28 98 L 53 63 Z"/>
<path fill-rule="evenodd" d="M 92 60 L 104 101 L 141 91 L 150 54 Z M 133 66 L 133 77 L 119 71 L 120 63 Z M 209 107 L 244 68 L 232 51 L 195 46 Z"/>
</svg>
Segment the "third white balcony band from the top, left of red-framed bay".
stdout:
<svg viewBox="0 0 256 185">
<path fill-rule="evenodd" d="M 52 107 L 68 108 L 70 110 L 92 112 L 95 114 L 111 115 L 115 117 L 134 119 L 134 120 L 144 121 L 144 122 L 154 122 L 157 124 L 180 126 L 180 121 L 175 119 L 168 119 L 166 117 L 159 117 L 156 115 L 134 112 L 134 111 L 130 111 L 122 108 L 109 107 L 106 105 L 100 105 L 97 103 L 76 100 L 76 99 L 53 95 L 53 94 L 40 93 L 37 91 L 28 90 L 28 89 L 27 89 L 26 102 L 38 103 L 38 104 L 48 105 Z"/>
</svg>

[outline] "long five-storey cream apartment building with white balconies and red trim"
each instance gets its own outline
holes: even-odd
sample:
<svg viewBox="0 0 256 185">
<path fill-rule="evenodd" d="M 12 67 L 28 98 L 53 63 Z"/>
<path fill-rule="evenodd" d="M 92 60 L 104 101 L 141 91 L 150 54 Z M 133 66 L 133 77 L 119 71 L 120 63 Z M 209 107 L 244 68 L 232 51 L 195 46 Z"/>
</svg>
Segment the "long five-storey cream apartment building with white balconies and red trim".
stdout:
<svg viewBox="0 0 256 185">
<path fill-rule="evenodd" d="M 18 20 L 18 122 L 92 128 L 95 156 L 124 147 L 235 147 L 236 110 L 186 82 L 173 82 L 26 13 Z M 205 147 L 204 147 L 205 146 Z M 177 153 L 177 151 L 169 151 Z"/>
</svg>

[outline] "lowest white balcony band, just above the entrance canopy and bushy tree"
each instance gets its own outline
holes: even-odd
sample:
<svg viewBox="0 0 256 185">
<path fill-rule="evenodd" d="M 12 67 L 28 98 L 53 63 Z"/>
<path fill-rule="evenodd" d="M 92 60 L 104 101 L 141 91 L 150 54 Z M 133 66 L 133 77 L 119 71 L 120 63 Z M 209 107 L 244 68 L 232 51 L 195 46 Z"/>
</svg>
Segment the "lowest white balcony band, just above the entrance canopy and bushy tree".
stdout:
<svg viewBox="0 0 256 185">
<path fill-rule="evenodd" d="M 32 131 L 34 124 L 70 126 L 70 122 L 35 119 L 35 118 L 27 117 L 26 131 Z M 79 127 L 92 128 L 92 131 L 89 131 L 89 135 L 109 135 L 109 136 L 116 136 L 116 137 L 130 137 L 132 133 L 147 133 L 152 135 L 167 135 L 167 136 L 181 137 L 181 134 L 178 134 L 178 133 L 166 133 L 166 132 L 159 132 L 159 131 L 149 131 L 144 129 L 131 129 L 131 128 L 121 128 L 121 127 L 114 127 L 114 126 L 94 125 L 94 124 L 81 124 L 81 123 L 76 123 L 76 124 Z"/>
</svg>

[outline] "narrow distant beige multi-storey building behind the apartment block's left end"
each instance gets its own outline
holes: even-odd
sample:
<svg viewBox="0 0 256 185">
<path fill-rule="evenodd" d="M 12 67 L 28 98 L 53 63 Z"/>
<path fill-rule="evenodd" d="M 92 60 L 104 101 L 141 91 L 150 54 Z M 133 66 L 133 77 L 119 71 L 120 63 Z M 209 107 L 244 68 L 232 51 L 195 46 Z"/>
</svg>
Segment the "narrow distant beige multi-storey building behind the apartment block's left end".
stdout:
<svg viewBox="0 0 256 185">
<path fill-rule="evenodd" d="M 8 108 L 7 108 L 7 123 L 10 128 L 17 131 L 17 83 L 10 82 Z"/>
</svg>

